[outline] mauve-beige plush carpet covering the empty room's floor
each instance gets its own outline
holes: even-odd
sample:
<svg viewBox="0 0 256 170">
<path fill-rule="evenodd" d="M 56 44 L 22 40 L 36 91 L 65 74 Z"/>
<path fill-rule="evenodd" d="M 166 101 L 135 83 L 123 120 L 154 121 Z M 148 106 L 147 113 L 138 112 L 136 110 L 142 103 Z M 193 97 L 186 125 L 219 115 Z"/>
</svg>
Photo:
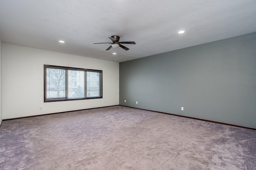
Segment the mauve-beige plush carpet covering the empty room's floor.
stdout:
<svg viewBox="0 0 256 170">
<path fill-rule="evenodd" d="M 124 106 L 3 121 L 1 170 L 255 170 L 256 131 Z"/>
</svg>

